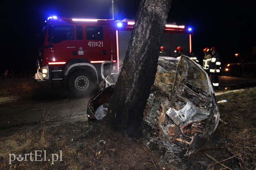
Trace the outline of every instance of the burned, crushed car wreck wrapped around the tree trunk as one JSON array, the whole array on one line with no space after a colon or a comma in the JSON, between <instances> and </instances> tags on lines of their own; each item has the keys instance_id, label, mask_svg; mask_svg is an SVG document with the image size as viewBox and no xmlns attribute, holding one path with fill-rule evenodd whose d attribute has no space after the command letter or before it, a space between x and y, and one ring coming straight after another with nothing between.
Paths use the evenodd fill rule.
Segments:
<instances>
[{"instance_id":1,"label":"burned, crushed car wreck wrapped around the tree trunk","mask_svg":"<svg viewBox=\"0 0 256 170\"><path fill-rule=\"evenodd\" d=\"M90 119L99 120L106 115L115 88L111 69L106 78L103 69L101 73L104 78L101 87L106 88L89 100L87 116ZM211 81L203 68L186 55L179 60L159 57L143 118L152 129L156 129L159 139L189 149L198 136L211 135L219 119Z\"/></svg>"}]
</instances>

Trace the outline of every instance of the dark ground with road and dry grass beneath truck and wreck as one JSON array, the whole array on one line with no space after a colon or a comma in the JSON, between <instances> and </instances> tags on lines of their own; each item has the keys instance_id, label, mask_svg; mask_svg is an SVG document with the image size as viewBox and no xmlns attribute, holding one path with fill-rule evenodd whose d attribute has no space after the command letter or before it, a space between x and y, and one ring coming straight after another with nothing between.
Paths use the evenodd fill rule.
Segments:
<instances>
[{"instance_id":1,"label":"dark ground with road and dry grass beneath truck and wreck","mask_svg":"<svg viewBox=\"0 0 256 170\"><path fill-rule=\"evenodd\" d=\"M255 169L255 88L216 91L217 101L228 100L218 104L222 121L190 150L160 141L145 123L143 136L131 139L88 120L89 98L47 87L36 95L1 98L0 169ZM35 151L42 155L35 158ZM10 164L9 154L19 153L34 154L33 161L12 155ZM59 158L52 164L54 153Z\"/></svg>"}]
</instances>

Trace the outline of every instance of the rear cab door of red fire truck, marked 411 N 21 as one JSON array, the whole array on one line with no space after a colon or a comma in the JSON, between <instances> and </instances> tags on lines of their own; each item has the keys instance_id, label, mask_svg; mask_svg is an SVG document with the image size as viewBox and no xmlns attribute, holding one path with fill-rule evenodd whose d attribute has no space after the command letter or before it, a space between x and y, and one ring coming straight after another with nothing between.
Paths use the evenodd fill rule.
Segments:
<instances>
[{"instance_id":1,"label":"rear cab door of red fire truck, marked 411 N 21","mask_svg":"<svg viewBox=\"0 0 256 170\"><path fill-rule=\"evenodd\" d=\"M113 40L109 25L85 25L83 26L84 44L79 43L78 58L86 58L92 63L102 63L106 60L114 60Z\"/></svg>"}]
</instances>

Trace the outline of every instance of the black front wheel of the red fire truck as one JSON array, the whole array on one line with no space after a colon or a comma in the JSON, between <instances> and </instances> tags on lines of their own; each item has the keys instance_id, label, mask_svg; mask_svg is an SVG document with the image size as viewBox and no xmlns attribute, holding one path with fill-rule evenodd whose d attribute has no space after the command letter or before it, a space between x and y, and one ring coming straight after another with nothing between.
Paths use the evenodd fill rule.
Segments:
<instances>
[{"instance_id":1,"label":"black front wheel of the red fire truck","mask_svg":"<svg viewBox=\"0 0 256 170\"><path fill-rule=\"evenodd\" d=\"M92 76L87 71L77 70L71 73L68 78L68 90L75 96L88 95L95 90L96 85Z\"/></svg>"}]
</instances>

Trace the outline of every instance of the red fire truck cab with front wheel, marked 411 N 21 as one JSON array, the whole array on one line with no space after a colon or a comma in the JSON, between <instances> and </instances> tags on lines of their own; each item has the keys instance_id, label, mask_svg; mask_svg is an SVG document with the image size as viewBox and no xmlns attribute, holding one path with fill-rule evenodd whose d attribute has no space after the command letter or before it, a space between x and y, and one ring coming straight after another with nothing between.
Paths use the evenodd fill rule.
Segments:
<instances>
[{"instance_id":1,"label":"red fire truck cab with front wheel, marked 411 N 21","mask_svg":"<svg viewBox=\"0 0 256 170\"><path fill-rule=\"evenodd\" d=\"M51 17L43 28L37 81L60 81L75 95L99 83L100 63L115 62L114 20Z\"/></svg>"}]
</instances>

